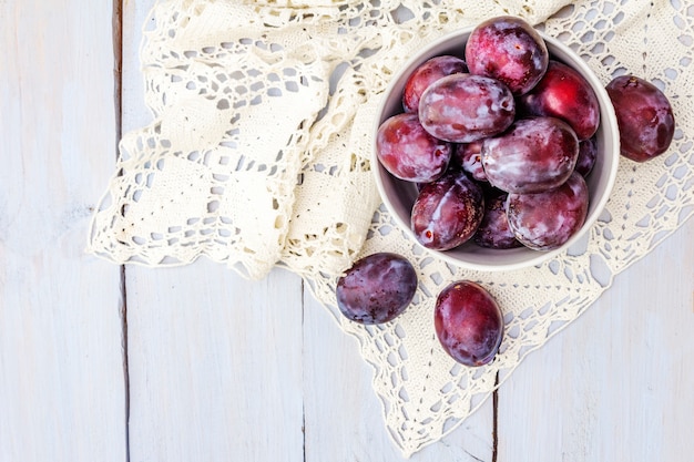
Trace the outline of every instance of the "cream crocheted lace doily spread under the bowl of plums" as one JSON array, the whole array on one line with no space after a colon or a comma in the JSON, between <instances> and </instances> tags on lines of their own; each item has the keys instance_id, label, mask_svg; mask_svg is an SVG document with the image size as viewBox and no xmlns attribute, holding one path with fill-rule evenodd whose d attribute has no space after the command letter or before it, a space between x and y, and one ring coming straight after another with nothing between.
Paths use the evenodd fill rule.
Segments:
<instances>
[{"instance_id":1,"label":"cream crocheted lace doily spread under the bowl of plums","mask_svg":"<svg viewBox=\"0 0 694 462\"><path fill-rule=\"evenodd\" d=\"M379 96L405 60L500 14L558 37L605 84L625 72L654 82L677 129L669 153L621 162L580 245L540 267L488 274L422 253L395 226L369 150ZM248 278L275 265L296 271L359 340L405 455L456 428L694 212L694 6L684 0L162 0L143 32L154 119L122 140L89 250L149 266L204 255ZM337 276L381 250L418 268L414 304L384 326L344 320ZM504 310L501 351L487 367L453 362L435 336L433 300L457 279L481 283Z\"/></svg>"}]
</instances>

